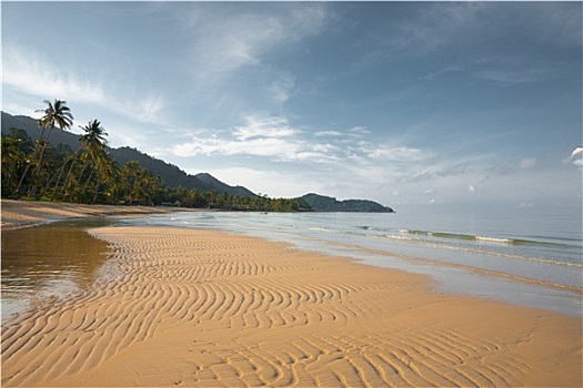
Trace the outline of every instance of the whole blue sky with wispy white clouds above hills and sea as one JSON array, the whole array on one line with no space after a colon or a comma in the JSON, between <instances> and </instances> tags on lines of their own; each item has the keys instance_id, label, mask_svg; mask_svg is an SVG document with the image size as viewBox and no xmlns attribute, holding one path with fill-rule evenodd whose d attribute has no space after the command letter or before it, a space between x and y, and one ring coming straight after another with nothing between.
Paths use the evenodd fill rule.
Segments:
<instances>
[{"instance_id":1,"label":"whole blue sky with wispy white clouds above hills and sea","mask_svg":"<svg viewBox=\"0 0 583 388\"><path fill-rule=\"evenodd\" d=\"M582 202L581 2L1 2L2 110L64 100L270 197Z\"/></svg>"}]
</instances>

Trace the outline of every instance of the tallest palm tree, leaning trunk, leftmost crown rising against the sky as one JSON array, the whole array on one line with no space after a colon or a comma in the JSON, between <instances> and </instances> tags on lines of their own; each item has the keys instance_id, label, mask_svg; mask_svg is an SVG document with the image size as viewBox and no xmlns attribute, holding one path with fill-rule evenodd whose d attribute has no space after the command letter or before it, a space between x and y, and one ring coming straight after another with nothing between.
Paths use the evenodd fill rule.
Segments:
<instances>
[{"instance_id":1,"label":"tallest palm tree, leaning trunk, leftmost crown rising against the sky","mask_svg":"<svg viewBox=\"0 0 583 388\"><path fill-rule=\"evenodd\" d=\"M61 132L66 129L70 127L73 123L73 115L71 114L71 110L69 106L67 106L67 101L62 100L54 100L54 104L51 103L48 100L44 100L44 103L48 105L44 110L39 110L37 112L44 113L44 115L39 120L39 126L41 127L41 134L39 139L39 146L34 151L34 156L31 159L31 164L33 162L37 163L37 169L34 171L34 175L40 174L40 170L42 166L42 157L44 156L44 151L47 150L47 145L49 144L49 136L51 135L52 130L58 126ZM49 130L49 133L47 134L47 137L44 136L44 131ZM24 177L27 176L31 164L27 166L27 170L24 170L24 173L22 174L22 177L20 178L20 183L17 187L17 193L20 190L20 186L22 182L24 181ZM30 190L29 195L33 196L37 192L37 184L32 185L32 188Z\"/></svg>"}]
</instances>

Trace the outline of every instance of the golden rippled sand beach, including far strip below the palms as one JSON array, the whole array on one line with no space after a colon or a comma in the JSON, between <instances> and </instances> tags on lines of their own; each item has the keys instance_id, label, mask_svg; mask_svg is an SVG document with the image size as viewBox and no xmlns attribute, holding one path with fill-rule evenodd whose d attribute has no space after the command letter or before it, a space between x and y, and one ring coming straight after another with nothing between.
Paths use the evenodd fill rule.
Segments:
<instances>
[{"instance_id":1,"label":"golden rippled sand beach, including far strip below the palms","mask_svg":"<svg viewBox=\"0 0 583 388\"><path fill-rule=\"evenodd\" d=\"M8 204L2 228L150 210ZM110 276L2 327L2 386L583 384L580 317L251 236L88 233L109 244Z\"/></svg>"}]
</instances>

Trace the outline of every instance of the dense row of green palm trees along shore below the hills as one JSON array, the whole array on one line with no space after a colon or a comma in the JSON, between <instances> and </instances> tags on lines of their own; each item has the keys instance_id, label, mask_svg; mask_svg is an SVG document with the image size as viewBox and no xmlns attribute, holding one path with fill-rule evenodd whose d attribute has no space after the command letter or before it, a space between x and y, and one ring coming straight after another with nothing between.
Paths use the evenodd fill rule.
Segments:
<instances>
[{"instance_id":1,"label":"dense row of green palm trees along shore below the hills","mask_svg":"<svg viewBox=\"0 0 583 388\"><path fill-rule=\"evenodd\" d=\"M83 204L181 206L231 211L300 212L302 198L267 195L234 196L217 191L169 187L138 161L119 165L108 151L108 133L98 120L80 126L79 146L52 146L53 130L71 127L73 115L66 101L44 101L37 141L22 129L2 135L2 197Z\"/></svg>"}]
</instances>

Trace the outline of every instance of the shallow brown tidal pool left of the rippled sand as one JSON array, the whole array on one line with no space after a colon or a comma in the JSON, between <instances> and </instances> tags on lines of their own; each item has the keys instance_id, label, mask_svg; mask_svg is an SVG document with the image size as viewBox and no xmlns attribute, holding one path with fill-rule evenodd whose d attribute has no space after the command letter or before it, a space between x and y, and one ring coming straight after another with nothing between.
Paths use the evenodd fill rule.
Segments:
<instances>
[{"instance_id":1,"label":"shallow brown tidal pool left of the rippled sand","mask_svg":"<svg viewBox=\"0 0 583 388\"><path fill-rule=\"evenodd\" d=\"M108 259L108 243L84 228L109 223L84 219L2 232L2 321L48 297L90 287Z\"/></svg>"}]
</instances>

